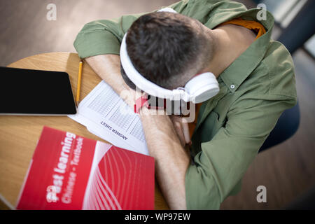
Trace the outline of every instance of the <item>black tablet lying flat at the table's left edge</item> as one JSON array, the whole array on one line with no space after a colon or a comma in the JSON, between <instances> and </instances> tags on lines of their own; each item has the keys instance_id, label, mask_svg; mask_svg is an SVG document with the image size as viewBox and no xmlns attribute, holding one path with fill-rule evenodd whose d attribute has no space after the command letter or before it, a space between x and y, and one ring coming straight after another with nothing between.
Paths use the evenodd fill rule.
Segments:
<instances>
[{"instance_id":1,"label":"black tablet lying flat at the table's left edge","mask_svg":"<svg viewBox=\"0 0 315 224\"><path fill-rule=\"evenodd\" d=\"M0 115L75 113L68 73L0 66Z\"/></svg>"}]
</instances>

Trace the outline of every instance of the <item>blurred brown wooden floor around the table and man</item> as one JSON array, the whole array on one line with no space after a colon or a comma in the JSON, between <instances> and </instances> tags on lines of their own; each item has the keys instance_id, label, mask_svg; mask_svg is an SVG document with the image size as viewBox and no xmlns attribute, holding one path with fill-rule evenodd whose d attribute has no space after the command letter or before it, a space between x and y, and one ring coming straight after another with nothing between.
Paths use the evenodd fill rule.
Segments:
<instances>
[{"instance_id":1,"label":"blurred brown wooden floor around the table and man","mask_svg":"<svg viewBox=\"0 0 315 224\"><path fill-rule=\"evenodd\" d=\"M74 38L85 23L148 12L174 2L0 1L0 66L42 52L75 52ZM48 3L57 6L56 21L46 20ZM249 7L255 6L251 1L245 3ZM293 59L301 111L300 128L294 137L255 158L244 176L241 193L228 197L221 209L281 209L315 185L315 64L302 50L297 51ZM256 201L256 188L261 185L267 188L266 203Z\"/></svg>"}]
</instances>

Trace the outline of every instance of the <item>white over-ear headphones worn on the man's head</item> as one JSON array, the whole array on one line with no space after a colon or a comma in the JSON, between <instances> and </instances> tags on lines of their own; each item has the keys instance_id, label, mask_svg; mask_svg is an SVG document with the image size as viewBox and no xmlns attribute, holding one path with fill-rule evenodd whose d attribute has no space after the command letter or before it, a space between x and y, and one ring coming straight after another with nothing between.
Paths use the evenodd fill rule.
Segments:
<instances>
[{"instance_id":1,"label":"white over-ear headphones worn on the man's head","mask_svg":"<svg viewBox=\"0 0 315 224\"><path fill-rule=\"evenodd\" d=\"M162 8L159 10L176 13L172 8ZM126 36L120 46L120 62L125 70L126 75L134 85L139 87L147 94L161 99L179 100L183 99L185 102L193 102L195 104L205 102L206 100L214 97L219 92L218 81L216 76L211 72L201 73L186 83L185 87L178 87L175 90L168 90L150 80L144 78L137 69L134 68L130 57L127 53Z\"/></svg>"}]
</instances>

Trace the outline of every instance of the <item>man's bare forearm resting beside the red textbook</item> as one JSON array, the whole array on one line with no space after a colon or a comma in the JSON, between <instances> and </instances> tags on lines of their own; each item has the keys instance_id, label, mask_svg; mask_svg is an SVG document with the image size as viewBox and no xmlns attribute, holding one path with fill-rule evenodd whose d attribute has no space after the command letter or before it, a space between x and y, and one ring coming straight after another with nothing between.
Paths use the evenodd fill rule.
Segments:
<instances>
[{"instance_id":1,"label":"man's bare forearm resting beside the red textbook","mask_svg":"<svg viewBox=\"0 0 315 224\"><path fill-rule=\"evenodd\" d=\"M144 107L141 122L148 151L155 158L156 175L165 200L170 209L186 209L185 176L190 158L172 120L165 115L150 115Z\"/></svg>"}]
</instances>

